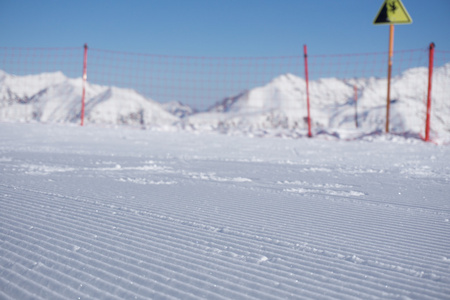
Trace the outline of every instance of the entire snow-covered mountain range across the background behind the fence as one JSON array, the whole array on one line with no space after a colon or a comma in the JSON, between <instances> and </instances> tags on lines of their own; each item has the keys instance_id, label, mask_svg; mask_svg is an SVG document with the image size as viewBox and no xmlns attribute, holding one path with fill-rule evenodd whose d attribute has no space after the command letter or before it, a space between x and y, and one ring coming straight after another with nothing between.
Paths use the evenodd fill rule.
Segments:
<instances>
[{"instance_id":1,"label":"entire snow-covered mountain range across the background behind the fence","mask_svg":"<svg viewBox=\"0 0 450 300\"><path fill-rule=\"evenodd\" d=\"M450 63L433 74L432 134L450 140ZM413 68L392 79L391 132L424 134L427 68ZM386 118L385 78L322 78L310 82L311 119L315 133L342 136L381 132ZM355 103L354 88L357 88ZM81 78L61 72L14 76L0 71L0 121L79 122ZM182 99L158 103L132 89L86 84L85 120L90 124L127 124L146 128L302 135L307 128L306 84L284 74L219 101L198 112ZM356 105L355 105L356 104Z\"/></svg>"}]
</instances>

